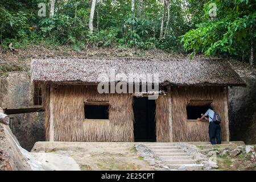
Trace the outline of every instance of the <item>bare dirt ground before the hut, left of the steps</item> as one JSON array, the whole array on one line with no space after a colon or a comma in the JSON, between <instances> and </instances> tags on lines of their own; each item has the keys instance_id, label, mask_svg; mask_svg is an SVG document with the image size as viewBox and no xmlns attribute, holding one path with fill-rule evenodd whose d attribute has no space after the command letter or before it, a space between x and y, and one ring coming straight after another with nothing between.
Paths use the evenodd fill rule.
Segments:
<instances>
[{"instance_id":1,"label":"bare dirt ground before the hut, left of the steps","mask_svg":"<svg viewBox=\"0 0 256 182\"><path fill-rule=\"evenodd\" d=\"M67 155L81 170L156 170L137 154L134 143L38 142L32 152Z\"/></svg>"}]
</instances>

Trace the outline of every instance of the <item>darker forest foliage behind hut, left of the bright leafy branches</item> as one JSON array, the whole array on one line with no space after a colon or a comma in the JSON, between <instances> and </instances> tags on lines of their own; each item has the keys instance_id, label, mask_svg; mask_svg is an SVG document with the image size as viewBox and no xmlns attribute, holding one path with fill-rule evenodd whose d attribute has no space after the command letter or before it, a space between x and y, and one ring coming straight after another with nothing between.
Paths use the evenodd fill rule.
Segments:
<instances>
[{"instance_id":1,"label":"darker forest foliage behind hut, left of the bright leafy branches","mask_svg":"<svg viewBox=\"0 0 256 182\"><path fill-rule=\"evenodd\" d=\"M47 5L47 17L43 18L37 15L38 3L42 2ZM165 39L159 41L163 3L155 0L136 3L135 15L131 15L131 3L125 0L97 1L93 34L88 32L88 1L56 1L55 16L49 18L47 0L3 0L0 2L1 44L3 49L12 42L15 48L26 48L32 43L50 48L66 45L80 50L93 44L97 47L157 47L182 51L178 37L187 31L188 26L184 26L181 2L172 1L170 14L173 21L167 27Z\"/></svg>"}]
</instances>

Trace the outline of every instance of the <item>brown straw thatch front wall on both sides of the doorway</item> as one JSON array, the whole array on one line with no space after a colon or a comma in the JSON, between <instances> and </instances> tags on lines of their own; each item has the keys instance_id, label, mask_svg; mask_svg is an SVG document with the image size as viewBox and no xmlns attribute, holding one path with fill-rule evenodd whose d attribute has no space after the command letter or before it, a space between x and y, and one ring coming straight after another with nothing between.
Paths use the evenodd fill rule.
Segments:
<instances>
[{"instance_id":1,"label":"brown straw thatch front wall on both sides of the doorway","mask_svg":"<svg viewBox=\"0 0 256 182\"><path fill-rule=\"evenodd\" d=\"M52 86L53 88L54 86ZM49 140L49 102L53 103L55 141L133 142L133 96L131 94L99 94L97 86L58 85L52 89L44 85L43 104L46 110L46 139ZM213 100L214 110L224 120L221 123L222 140L226 140L226 92L218 86L173 86L172 92L156 100L156 141L209 141L208 122L188 122L186 106L189 100ZM171 102L170 102L171 99ZM108 101L108 121L86 121L86 100ZM172 109L170 110L170 103ZM170 112L170 113L169 113ZM170 117L172 134L170 135ZM200 116L199 116L200 117Z\"/></svg>"}]
</instances>

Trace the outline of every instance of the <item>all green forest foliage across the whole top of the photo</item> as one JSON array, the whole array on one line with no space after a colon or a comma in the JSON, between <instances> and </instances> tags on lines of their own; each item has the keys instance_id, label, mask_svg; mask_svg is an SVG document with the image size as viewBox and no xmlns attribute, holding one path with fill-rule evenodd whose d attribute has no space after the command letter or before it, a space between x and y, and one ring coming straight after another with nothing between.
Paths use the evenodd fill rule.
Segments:
<instances>
[{"instance_id":1,"label":"all green forest foliage across the whole top of the photo","mask_svg":"<svg viewBox=\"0 0 256 182\"><path fill-rule=\"evenodd\" d=\"M217 17L210 18L210 3L217 5ZM47 16L38 16L38 3L46 3ZM59 0L55 16L49 18L48 0L2 0L0 2L0 43L7 49L29 44L159 48L168 52L203 53L212 56L249 57L255 42L254 0L170 0L164 20L164 38L159 39L163 2L136 1L135 14L126 0L98 0L93 34L88 32L90 1Z\"/></svg>"}]
</instances>

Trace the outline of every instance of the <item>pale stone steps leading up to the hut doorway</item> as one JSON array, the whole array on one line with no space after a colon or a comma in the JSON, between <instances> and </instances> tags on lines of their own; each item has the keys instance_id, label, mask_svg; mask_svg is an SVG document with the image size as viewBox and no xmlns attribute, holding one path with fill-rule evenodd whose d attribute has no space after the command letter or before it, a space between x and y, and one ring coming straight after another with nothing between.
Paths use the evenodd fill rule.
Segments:
<instances>
[{"instance_id":1,"label":"pale stone steps leading up to the hut doorway","mask_svg":"<svg viewBox=\"0 0 256 182\"><path fill-rule=\"evenodd\" d=\"M203 164L196 164L194 156L185 152L177 143L143 143L171 170L199 170Z\"/></svg>"}]
</instances>

